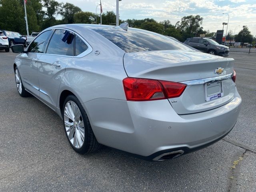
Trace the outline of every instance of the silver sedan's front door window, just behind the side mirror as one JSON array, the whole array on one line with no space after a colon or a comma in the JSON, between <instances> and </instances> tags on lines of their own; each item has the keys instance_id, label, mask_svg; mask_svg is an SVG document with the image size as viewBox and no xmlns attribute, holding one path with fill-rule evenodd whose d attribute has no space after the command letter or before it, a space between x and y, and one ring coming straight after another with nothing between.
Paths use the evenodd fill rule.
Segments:
<instances>
[{"instance_id":1,"label":"silver sedan's front door window, just behind the side mirror","mask_svg":"<svg viewBox=\"0 0 256 192\"><path fill-rule=\"evenodd\" d=\"M42 53L51 33L52 30L48 30L37 36L37 38L32 43L30 43L28 47L28 52Z\"/></svg>"}]
</instances>

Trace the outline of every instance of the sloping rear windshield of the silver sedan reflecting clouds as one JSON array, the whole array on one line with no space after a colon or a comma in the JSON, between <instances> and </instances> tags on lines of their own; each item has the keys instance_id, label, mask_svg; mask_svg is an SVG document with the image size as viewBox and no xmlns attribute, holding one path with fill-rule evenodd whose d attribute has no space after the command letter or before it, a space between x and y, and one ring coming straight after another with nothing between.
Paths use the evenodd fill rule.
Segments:
<instances>
[{"instance_id":1,"label":"sloping rear windshield of the silver sedan reflecting clouds","mask_svg":"<svg viewBox=\"0 0 256 192\"><path fill-rule=\"evenodd\" d=\"M170 38L144 30L128 28L120 30L113 28L92 28L127 53L156 50L190 50L183 44Z\"/></svg>"}]
</instances>

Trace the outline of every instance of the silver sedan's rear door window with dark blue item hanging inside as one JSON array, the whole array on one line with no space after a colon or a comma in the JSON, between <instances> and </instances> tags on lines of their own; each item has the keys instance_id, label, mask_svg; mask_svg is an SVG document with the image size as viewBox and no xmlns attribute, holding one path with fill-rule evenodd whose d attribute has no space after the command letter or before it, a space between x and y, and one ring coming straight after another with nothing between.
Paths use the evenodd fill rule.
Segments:
<instances>
[{"instance_id":1,"label":"silver sedan's rear door window with dark blue item hanging inside","mask_svg":"<svg viewBox=\"0 0 256 192\"><path fill-rule=\"evenodd\" d=\"M74 56L74 33L67 30L55 30L46 53Z\"/></svg>"}]
</instances>

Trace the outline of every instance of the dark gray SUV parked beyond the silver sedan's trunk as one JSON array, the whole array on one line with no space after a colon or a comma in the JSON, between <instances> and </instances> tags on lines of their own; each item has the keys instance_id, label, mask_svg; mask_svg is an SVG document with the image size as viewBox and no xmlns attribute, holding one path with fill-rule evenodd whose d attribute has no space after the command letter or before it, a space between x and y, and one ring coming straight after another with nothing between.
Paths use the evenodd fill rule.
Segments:
<instances>
[{"instance_id":1,"label":"dark gray SUV parked beyond the silver sedan's trunk","mask_svg":"<svg viewBox=\"0 0 256 192\"><path fill-rule=\"evenodd\" d=\"M218 55L223 57L229 56L229 48L227 46L218 44L216 41L212 39L192 37L188 38L184 42L184 44L212 55Z\"/></svg>"}]
</instances>

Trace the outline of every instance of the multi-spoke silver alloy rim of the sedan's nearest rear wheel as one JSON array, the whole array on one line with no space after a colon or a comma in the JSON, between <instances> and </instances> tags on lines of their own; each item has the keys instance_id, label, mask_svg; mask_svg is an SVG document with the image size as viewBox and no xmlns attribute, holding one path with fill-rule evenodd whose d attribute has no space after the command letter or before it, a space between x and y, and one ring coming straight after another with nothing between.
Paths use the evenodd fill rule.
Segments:
<instances>
[{"instance_id":1,"label":"multi-spoke silver alloy rim of the sedan's nearest rear wheel","mask_svg":"<svg viewBox=\"0 0 256 192\"><path fill-rule=\"evenodd\" d=\"M64 124L70 143L75 148L81 148L84 144L84 121L78 106L73 101L66 102Z\"/></svg>"}]
</instances>

